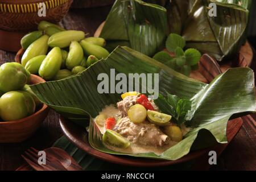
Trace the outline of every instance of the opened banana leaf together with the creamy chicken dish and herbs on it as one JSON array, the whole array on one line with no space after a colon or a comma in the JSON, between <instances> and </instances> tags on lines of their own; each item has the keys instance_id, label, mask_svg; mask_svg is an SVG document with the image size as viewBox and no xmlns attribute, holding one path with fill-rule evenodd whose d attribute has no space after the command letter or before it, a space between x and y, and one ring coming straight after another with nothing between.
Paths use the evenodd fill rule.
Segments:
<instances>
[{"instance_id":1,"label":"opened banana leaf together with the creamy chicken dish and herbs on it","mask_svg":"<svg viewBox=\"0 0 256 182\"><path fill-rule=\"evenodd\" d=\"M127 85L122 84L127 90L133 88L130 73L149 76L138 82L139 90L133 90L137 92L112 92L111 86L99 92L99 75L120 86L119 73L128 79ZM148 86L155 75L158 78ZM76 76L31 89L40 101L84 127L84 132L89 126L89 143L96 150L142 158L176 160L189 151L227 143L229 119L256 109L250 68L231 68L205 84L129 47L115 48Z\"/></svg>"}]
</instances>

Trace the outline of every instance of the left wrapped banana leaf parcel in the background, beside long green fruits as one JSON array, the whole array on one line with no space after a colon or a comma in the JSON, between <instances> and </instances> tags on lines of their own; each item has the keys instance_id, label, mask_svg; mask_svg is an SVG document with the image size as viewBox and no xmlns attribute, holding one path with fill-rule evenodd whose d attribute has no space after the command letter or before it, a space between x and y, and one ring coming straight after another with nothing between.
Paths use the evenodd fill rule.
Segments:
<instances>
[{"instance_id":1,"label":"left wrapped banana leaf parcel in the background, beside long green fruits","mask_svg":"<svg viewBox=\"0 0 256 182\"><path fill-rule=\"evenodd\" d=\"M109 51L117 46L129 46L153 56L166 40L166 9L141 0L117 0L100 36L107 40Z\"/></svg>"}]
</instances>

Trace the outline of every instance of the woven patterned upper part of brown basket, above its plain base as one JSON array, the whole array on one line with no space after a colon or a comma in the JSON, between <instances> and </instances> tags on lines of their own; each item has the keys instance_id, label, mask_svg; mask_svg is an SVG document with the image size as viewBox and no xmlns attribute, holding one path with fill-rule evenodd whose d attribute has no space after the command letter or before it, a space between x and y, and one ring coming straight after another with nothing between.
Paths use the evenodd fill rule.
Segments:
<instances>
[{"instance_id":1,"label":"woven patterned upper part of brown basket, above its plain base","mask_svg":"<svg viewBox=\"0 0 256 182\"><path fill-rule=\"evenodd\" d=\"M38 4L46 4L46 17L38 16ZM0 1L0 29L11 32L35 30L42 20L59 22L73 0L2 0Z\"/></svg>"}]
</instances>

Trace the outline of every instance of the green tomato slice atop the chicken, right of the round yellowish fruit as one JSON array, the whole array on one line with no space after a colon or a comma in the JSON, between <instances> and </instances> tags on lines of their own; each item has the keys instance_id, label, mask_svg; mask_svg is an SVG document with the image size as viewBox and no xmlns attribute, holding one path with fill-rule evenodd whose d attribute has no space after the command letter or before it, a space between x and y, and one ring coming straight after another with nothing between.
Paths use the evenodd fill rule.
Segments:
<instances>
[{"instance_id":1,"label":"green tomato slice atop the chicken, right of the round yellowish fruit","mask_svg":"<svg viewBox=\"0 0 256 182\"><path fill-rule=\"evenodd\" d=\"M166 126L171 120L172 116L164 113L159 113L154 110L147 110L148 121L158 126Z\"/></svg>"}]
</instances>

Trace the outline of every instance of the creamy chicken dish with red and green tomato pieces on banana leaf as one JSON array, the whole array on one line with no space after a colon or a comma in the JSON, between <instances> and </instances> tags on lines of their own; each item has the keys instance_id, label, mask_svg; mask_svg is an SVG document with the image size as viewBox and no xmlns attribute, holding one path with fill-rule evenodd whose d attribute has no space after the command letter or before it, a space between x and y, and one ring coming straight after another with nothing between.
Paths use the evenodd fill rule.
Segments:
<instances>
[{"instance_id":1,"label":"creamy chicken dish with red and green tomato pieces on banana leaf","mask_svg":"<svg viewBox=\"0 0 256 182\"><path fill-rule=\"evenodd\" d=\"M189 128L171 122L154 100L137 92L121 95L122 101L105 106L94 118L104 145L129 154L154 152L159 155L183 139Z\"/></svg>"}]
</instances>

